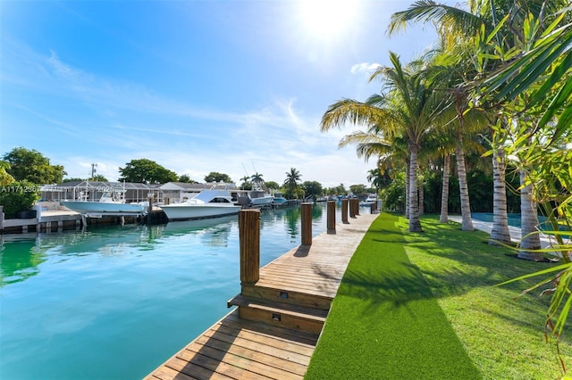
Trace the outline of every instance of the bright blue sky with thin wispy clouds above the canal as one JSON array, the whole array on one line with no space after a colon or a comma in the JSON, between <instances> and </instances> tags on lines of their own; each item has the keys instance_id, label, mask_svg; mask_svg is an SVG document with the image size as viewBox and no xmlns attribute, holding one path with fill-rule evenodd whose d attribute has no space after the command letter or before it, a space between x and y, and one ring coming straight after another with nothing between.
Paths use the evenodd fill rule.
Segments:
<instances>
[{"instance_id":1,"label":"bright blue sky with thin wispy clouds above the canal","mask_svg":"<svg viewBox=\"0 0 572 380\"><path fill-rule=\"evenodd\" d=\"M366 185L375 161L338 149L355 128L319 122L380 89L367 78L388 51L408 62L435 41L428 27L387 37L411 3L2 0L0 154L36 149L72 178L97 163L116 180L147 158L199 182L256 170L282 183L296 168Z\"/></svg>"}]
</instances>

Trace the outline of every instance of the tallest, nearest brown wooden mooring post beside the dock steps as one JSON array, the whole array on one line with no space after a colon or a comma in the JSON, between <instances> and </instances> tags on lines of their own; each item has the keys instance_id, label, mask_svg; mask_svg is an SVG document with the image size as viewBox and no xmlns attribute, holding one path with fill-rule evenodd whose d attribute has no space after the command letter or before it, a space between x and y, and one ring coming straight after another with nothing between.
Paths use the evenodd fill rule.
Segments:
<instances>
[{"instance_id":1,"label":"tallest, nearest brown wooden mooring post beside the dock steps","mask_svg":"<svg viewBox=\"0 0 572 380\"><path fill-rule=\"evenodd\" d=\"M260 279L260 211L239 212L240 282L256 283Z\"/></svg>"}]
</instances>

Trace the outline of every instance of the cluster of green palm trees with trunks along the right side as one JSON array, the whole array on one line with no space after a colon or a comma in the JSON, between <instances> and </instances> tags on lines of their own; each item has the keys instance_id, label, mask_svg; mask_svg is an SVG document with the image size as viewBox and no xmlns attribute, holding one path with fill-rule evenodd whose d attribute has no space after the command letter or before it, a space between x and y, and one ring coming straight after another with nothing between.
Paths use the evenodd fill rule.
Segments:
<instances>
[{"instance_id":1,"label":"cluster of green palm trees with trunks along the right side","mask_svg":"<svg viewBox=\"0 0 572 380\"><path fill-rule=\"evenodd\" d=\"M447 221L450 157L456 159L462 229L473 228L467 186L467 153L490 160L493 227L490 244L510 244L507 167L520 177L523 239L518 255L542 260L537 211L551 222L562 266L547 326L559 335L572 306L572 268L559 228L572 220L572 6L568 0L467 0L465 7L418 0L394 13L390 35L410 23L430 23L436 47L408 63L371 77L382 84L364 102L341 99L324 112L322 131L358 125L341 139L357 155L377 158L377 169L405 168L409 231L421 232L420 169L443 171L442 222ZM483 144L475 144L475 143ZM540 207L539 207L540 206Z\"/></svg>"}]
</instances>

